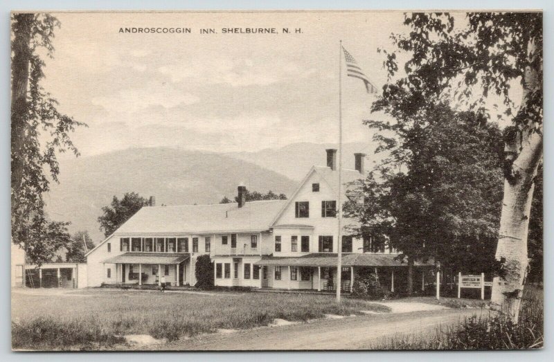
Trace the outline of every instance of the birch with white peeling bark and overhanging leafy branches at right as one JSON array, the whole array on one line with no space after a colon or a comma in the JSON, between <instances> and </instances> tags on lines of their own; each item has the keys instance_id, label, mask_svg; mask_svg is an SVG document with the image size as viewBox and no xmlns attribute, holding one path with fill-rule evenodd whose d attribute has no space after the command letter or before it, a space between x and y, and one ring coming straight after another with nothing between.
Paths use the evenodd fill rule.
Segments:
<instances>
[{"instance_id":1,"label":"birch with white peeling bark and overhanging leafy branches at right","mask_svg":"<svg viewBox=\"0 0 554 362\"><path fill-rule=\"evenodd\" d=\"M409 54L406 76L398 77L398 51L385 52L389 79L374 111L409 118L428 102L446 100L485 118L497 113L509 123L503 130L504 191L492 302L517 321L528 268L530 206L542 160L542 12L470 12L465 18L409 13L404 25L409 33L392 39Z\"/></svg>"}]
</instances>

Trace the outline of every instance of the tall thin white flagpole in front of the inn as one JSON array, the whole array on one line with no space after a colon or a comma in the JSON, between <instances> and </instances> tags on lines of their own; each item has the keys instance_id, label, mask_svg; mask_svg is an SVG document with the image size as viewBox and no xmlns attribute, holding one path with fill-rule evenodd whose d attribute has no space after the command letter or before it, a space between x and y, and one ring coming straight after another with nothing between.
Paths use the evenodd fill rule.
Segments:
<instances>
[{"instance_id":1,"label":"tall thin white flagpole in front of the inn","mask_svg":"<svg viewBox=\"0 0 554 362\"><path fill-rule=\"evenodd\" d=\"M341 277L342 277L342 40L339 40L339 195L337 196L337 206L339 215L337 224L339 225L339 239L337 240L337 302L341 301Z\"/></svg>"}]
</instances>

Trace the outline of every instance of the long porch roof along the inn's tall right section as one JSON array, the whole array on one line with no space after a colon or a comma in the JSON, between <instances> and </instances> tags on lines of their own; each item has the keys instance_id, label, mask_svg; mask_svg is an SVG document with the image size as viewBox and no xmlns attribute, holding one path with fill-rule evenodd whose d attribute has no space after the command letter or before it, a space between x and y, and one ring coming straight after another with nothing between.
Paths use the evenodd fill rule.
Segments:
<instances>
[{"instance_id":1,"label":"long porch roof along the inn's tall right section","mask_svg":"<svg viewBox=\"0 0 554 362\"><path fill-rule=\"evenodd\" d=\"M342 255L343 266L408 266L395 258L398 254L366 254L348 253ZM256 265L281 265L281 266L337 266L336 253L312 253L298 257L262 257ZM431 258L427 262L415 261L414 266L434 266Z\"/></svg>"}]
</instances>

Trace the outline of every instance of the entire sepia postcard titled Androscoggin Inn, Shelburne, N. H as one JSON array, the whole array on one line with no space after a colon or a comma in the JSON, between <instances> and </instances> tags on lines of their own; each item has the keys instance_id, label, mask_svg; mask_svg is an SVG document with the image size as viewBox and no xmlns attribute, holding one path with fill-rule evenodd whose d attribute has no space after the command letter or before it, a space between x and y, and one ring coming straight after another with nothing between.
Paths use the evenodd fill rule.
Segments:
<instances>
[{"instance_id":1,"label":"entire sepia postcard titled Androscoggin Inn, Shelburne, N. H","mask_svg":"<svg viewBox=\"0 0 554 362\"><path fill-rule=\"evenodd\" d=\"M11 14L12 349L543 347L542 12Z\"/></svg>"}]
</instances>

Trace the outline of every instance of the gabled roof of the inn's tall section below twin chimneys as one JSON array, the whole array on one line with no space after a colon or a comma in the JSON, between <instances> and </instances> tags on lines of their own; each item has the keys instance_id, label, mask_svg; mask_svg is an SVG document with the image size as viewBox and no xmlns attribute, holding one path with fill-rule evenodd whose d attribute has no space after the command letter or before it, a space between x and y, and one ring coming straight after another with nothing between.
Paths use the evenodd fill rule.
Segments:
<instances>
[{"instance_id":1,"label":"gabled roof of the inn's tall section below twin chimneys","mask_svg":"<svg viewBox=\"0 0 554 362\"><path fill-rule=\"evenodd\" d=\"M271 222L272 226L275 226L278 219L283 215L283 212L285 212L287 206L289 206L289 203L292 203L294 199L296 199L296 195L300 190L302 189L303 185L307 182L308 179L310 179L310 176L312 176L313 173L319 174L321 179L325 181L331 188L332 192L334 194L339 194L339 172L337 170L331 170L329 167L324 166L312 166L310 168L310 171L307 172L306 176L302 179L300 185L298 185L298 188L294 191L292 196L283 204L283 207L274 217L273 221ZM342 169L341 172L341 183L343 184L343 201L346 201L346 187L344 186L346 183L350 183L352 181L356 181L359 179L364 179L364 175L360 174L356 170L348 170L346 168Z\"/></svg>"}]
</instances>

